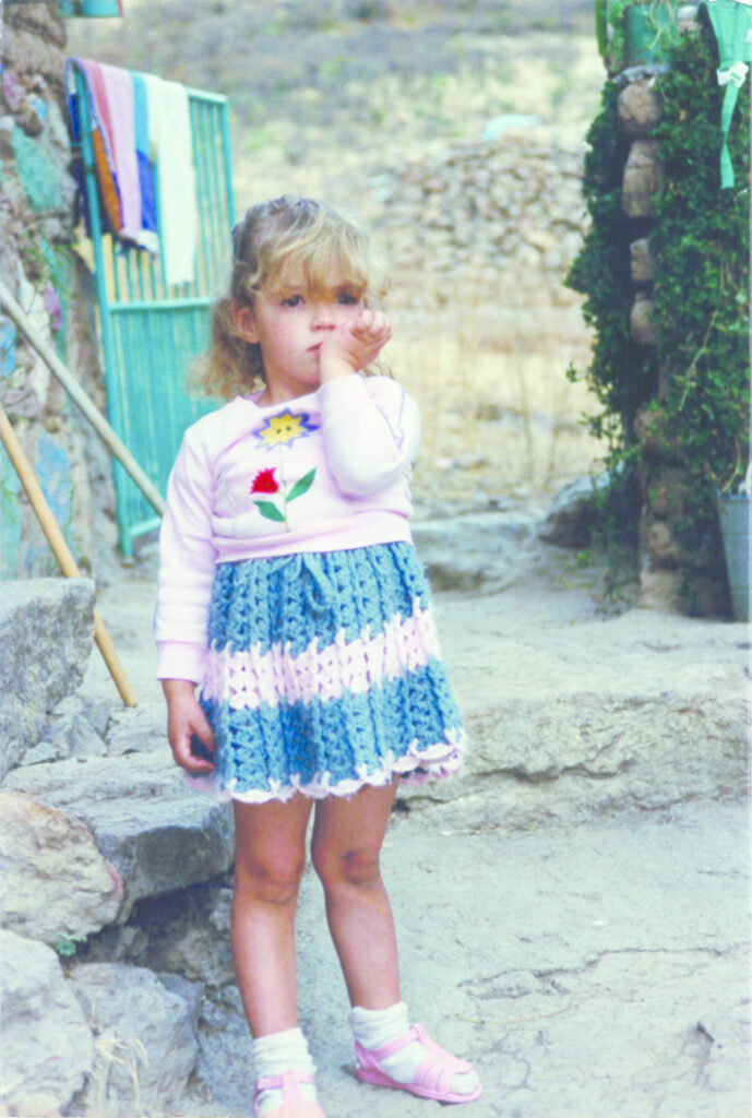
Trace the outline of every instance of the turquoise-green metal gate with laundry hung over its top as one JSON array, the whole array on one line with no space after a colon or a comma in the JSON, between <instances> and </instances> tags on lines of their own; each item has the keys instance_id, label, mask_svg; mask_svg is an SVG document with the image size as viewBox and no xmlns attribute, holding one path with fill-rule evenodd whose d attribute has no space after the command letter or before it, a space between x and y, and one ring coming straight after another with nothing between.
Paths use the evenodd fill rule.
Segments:
<instances>
[{"instance_id":1,"label":"turquoise-green metal gate with laundry hung over its top","mask_svg":"<svg viewBox=\"0 0 752 1118\"><path fill-rule=\"evenodd\" d=\"M162 255L103 230L86 82L76 74L86 197L94 243L107 418L162 493L184 429L216 405L188 395L191 361L208 341L209 309L227 284L235 199L227 98L188 89L199 214L196 278L168 285ZM159 173L159 169L158 169ZM123 555L159 517L114 463Z\"/></svg>"}]
</instances>

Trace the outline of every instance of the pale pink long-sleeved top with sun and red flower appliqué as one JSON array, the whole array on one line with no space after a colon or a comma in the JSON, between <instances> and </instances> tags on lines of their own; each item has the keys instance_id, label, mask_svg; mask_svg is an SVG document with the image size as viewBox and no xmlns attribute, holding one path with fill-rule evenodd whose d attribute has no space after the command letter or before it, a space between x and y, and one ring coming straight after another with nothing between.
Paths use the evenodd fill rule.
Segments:
<instances>
[{"instance_id":1,"label":"pale pink long-sleeved top with sun and red flower appliqu\u00e9","mask_svg":"<svg viewBox=\"0 0 752 1118\"><path fill-rule=\"evenodd\" d=\"M168 484L158 678L200 683L220 562L410 540L415 400L385 377L340 377L259 407L237 397L185 432Z\"/></svg>"}]
</instances>

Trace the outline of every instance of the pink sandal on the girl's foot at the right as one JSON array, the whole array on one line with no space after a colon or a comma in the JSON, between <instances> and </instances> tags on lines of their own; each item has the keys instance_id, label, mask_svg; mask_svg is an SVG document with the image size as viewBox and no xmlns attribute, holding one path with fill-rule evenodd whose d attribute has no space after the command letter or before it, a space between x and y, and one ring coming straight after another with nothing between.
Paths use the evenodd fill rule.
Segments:
<instances>
[{"instance_id":1,"label":"pink sandal on the girl's foot at the right","mask_svg":"<svg viewBox=\"0 0 752 1118\"><path fill-rule=\"evenodd\" d=\"M400 1052L413 1041L419 1041L427 1049L426 1059L418 1067L411 1083L400 1083L387 1074L380 1065L380 1061L385 1057ZM483 1095L480 1083L470 1095L458 1095L451 1090L451 1080L455 1076L465 1071L473 1071L473 1064L467 1060L459 1060L451 1052L447 1052L440 1044L432 1041L426 1032L425 1025L412 1025L409 1032L403 1033L391 1044L374 1049L369 1052L362 1044L355 1042L355 1055L358 1057L358 1070L355 1074L363 1083L374 1083L377 1087L393 1087L399 1091L410 1091L419 1095L421 1099L436 1099L438 1102L475 1102Z\"/></svg>"}]
</instances>

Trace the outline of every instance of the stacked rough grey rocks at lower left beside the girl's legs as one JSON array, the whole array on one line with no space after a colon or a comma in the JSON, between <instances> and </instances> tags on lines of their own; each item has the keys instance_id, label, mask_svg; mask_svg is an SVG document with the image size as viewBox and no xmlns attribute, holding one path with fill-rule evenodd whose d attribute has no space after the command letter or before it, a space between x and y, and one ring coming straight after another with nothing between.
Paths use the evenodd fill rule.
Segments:
<instances>
[{"instance_id":1,"label":"stacked rough grey rocks at lower left beside the girl's legs","mask_svg":"<svg viewBox=\"0 0 752 1118\"><path fill-rule=\"evenodd\" d=\"M78 693L94 598L88 579L2 585L3 1115L173 1112L201 992L232 980L231 815L179 775L161 702ZM206 919L177 920L164 894L187 908L197 887Z\"/></svg>"}]
</instances>

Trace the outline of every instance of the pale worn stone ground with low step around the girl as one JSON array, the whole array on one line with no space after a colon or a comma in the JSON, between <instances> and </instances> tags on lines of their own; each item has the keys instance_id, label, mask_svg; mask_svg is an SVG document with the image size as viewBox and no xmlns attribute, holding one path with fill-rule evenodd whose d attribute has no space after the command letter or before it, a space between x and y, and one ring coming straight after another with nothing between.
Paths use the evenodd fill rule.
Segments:
<instances>
[{"instance_id":1,"label":"pale worn stone ground with low step around the girl","mask_svg":"<svg viewBox=\"0 0 752 1118\"><path fill-rule=\"evenodd\" d=\"M477 1063L475 1118L748 1118L746 758L724 742L745 736L749 632L645 608L603 616L597 572L530 540L505 570L487 584L502 589L436 596L475 754L445 790L404 796L388 834L404 997ZM145 707L160 702L153 594L142 562L101 599ZM112 694L98 657L83 692ZM487 764L484 735L505 732L518 741ZM355 1081L310 872L298 935L330 1118L438 1114ZM202 1046L175 1114L250 1115L236 1006L213 1007Z\"/></svg>"}]
</instances>

